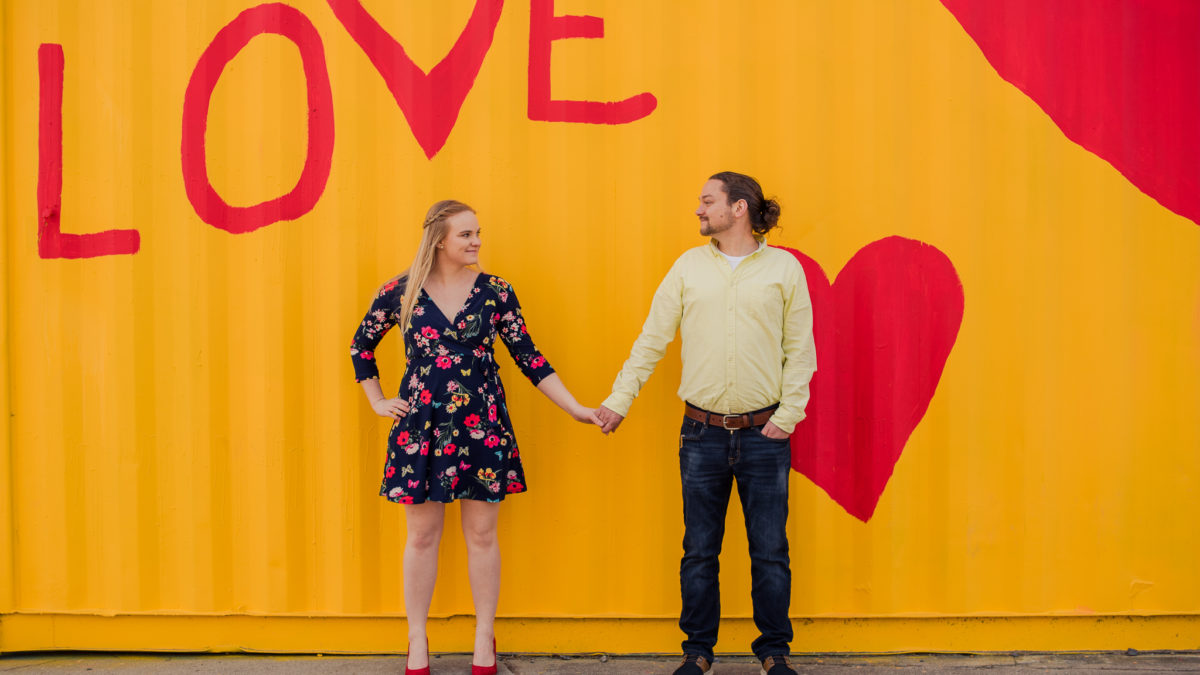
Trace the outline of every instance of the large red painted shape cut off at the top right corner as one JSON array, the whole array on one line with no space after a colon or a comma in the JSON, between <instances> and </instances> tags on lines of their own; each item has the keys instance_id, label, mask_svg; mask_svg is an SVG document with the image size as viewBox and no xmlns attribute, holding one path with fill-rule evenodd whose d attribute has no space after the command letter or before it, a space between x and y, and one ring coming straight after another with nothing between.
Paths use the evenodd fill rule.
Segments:
<instances>
[{"instance_id":1,"label":"large red painted shape cut off at the top right corner","mask_svg":"<svg viewBox=\"0 0 1200 675\"><path fill-rule=\"evenodd\" d=\"M942 4L1067 138L1200 225L1200 2Z\"/></svg>"}]
</instances>

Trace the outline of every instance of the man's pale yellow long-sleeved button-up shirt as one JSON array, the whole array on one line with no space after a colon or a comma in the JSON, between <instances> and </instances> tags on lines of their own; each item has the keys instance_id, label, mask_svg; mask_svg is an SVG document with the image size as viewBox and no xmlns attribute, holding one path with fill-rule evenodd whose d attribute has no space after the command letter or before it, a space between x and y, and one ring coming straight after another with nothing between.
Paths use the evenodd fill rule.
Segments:
<instances>
[{"instance_id":1,"label":"man's pale yellow long-sleeved button-up shirt","mask_svg":"<svg viewBox=\"0 0 1200 675\"><path fill-rule=\"evenodd\" d=\"M804 419L817 358L812 303L794 256L762 240L737 269L715 241L679 256L654 293L605 407L629 413L677 329L683 336L680 399L722 414L778 402L770 420L788 434Z\"/></svg>"}]
</instances>

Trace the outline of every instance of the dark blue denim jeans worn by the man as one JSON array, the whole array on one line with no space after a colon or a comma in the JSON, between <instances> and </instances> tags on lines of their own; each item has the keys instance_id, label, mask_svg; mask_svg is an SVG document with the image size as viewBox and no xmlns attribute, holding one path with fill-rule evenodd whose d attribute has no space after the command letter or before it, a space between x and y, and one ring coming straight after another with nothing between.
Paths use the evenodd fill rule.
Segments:
<instances>
[{"instance_id":1,"label":"dark blue denim jeans worn by the man","mask_svg":"<svg viewBox=\"0 0 1200 675\"><path fill-rule=\"evenodd\" d=\"M727 431L684 418L679 431L679 476L683 483L683 560L679 628L688 635L684 653L712 663L721 621L718 581L721 539L730 490L738 482L742 515L750 542L750 598L761 633L751 643L755 657L787 656L792 641L788 607L792 571L787 556L787 440L762 435L761 426Z\"/></svg>"}]
</instances>

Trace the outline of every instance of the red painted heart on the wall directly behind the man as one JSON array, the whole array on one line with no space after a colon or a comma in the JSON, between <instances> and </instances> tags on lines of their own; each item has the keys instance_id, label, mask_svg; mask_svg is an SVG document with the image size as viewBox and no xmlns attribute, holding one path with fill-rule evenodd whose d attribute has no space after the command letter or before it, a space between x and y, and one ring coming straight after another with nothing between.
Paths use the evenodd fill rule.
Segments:
<instances>
[{"instance_id":1,"label":"red painted heart on the wall directly behind the man","mask_svg":"<svg viewBox=\"0 0 1200 675\"><path fill-rule=\"evenodd\" d=\"M792 468L870 520L925 416L962 323L962 283L944 253L888 237L860 249L833 286L804 253L817 372L792 435Z\"/></svg>"}]
</instances>

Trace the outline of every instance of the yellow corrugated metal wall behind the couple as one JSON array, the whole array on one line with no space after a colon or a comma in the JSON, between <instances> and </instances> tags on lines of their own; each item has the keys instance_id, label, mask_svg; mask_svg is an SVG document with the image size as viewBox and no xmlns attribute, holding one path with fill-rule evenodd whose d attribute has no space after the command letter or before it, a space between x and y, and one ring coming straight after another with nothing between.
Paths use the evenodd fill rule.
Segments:
<instances>
[{"instance_id":1,"label":"yellow corrugated metal wall behind the couple","mask_svg":"<svg viewBox=\"0 0 1200 675\"><path fill-rule=\"evenodd\" d=\"M311 211L244 234L193 209L181 115L200 54L252 2L0 8L0 651L311 649L283 617L344 617L307 625L332 637L325 651L402 649L404 524L377 496L386 422L353 382L348 344L410 259L425 208L478 209L485 268L516 286L544 353L596 405L659 279L702 243L695 197L726 168L779 196L772 241L830 277L901 235L941 250L966 298L874 516L793 474L797 646L1196 649L1200 227L1070 143L938 2L558 0L557 14L602 17L605 36L554 43L556 98L658 101L594 125L529 119L530 4L509 0L432 159L330 6L289 4L323 42L332 166ZM366 6L428 70L473 2ZM136 228L137 253L38 256L43 43L66 62L62 231ZM227 202L295 185L305 109L296 48L256 37L208 121ZM378 353L397 387L398 342ZM511 649L674 651L678 351L613 437L502 363L530 484L500 525ZM737 521L726 551L724 611L744 619ZM464 569L450 536L436 616L472 611ZM1110 615L1134 619L1112 628ZM180 617L206 623L188 637ZM1079 621L1010 626L1049 617ZM571 631L587 619L604 627L592 641ZM131 643L120 620L151 628ZM444 625L445 649L467 644L469 625ZM719 650L746 651L748 622L734 626Z\"/></svg>"}]
</instances>

